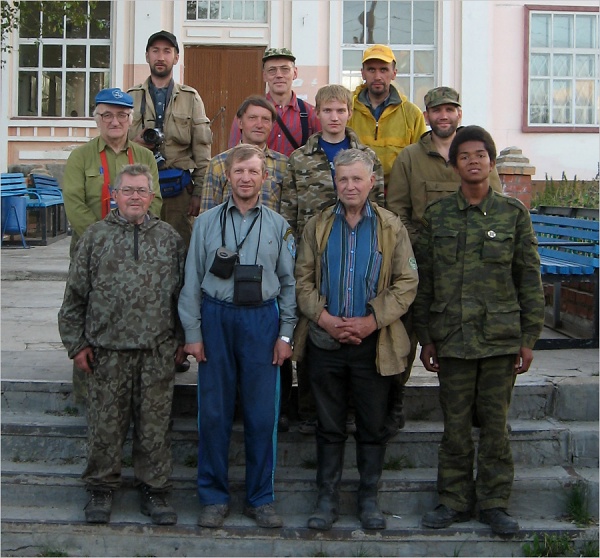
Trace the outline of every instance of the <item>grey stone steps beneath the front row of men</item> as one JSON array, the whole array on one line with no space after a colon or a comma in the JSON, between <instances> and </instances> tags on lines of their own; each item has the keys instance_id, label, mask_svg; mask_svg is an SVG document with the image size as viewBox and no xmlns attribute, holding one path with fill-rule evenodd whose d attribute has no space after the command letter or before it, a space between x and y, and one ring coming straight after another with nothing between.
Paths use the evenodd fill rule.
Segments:
<instances>
[{"instance_id":1,"label":"grey stone steps beneath the front row of men","mask_svg":"<svg viewBox=\"0 0 600 558\"><path fill-rule=\"evenodd\" d=\"M44 362L38 355L44 378ZM3 369L18 359L2 355ZM15 362L16 360L16 362ZM4 370L3 370L4 372ZM7 375L3 373L3 377ZM10 376L9 376L10 377ZM191 376L193 378L193 374ZM442 421L437 381L413 375L407 386L407 425L389 444L380 489L388 529L366 532L356 518L355 448L349 439L341 488L342 517L329 532L306 528L316 498L314 437L292 426L279 435L276 507L279 530L257 528L241 514L244 446L236 424L230 451L232 514L219 530L196 525L195 385L176 386L173 412L175 526L158 527L139 512L131 449L126 445L123 489L109 525L87 525L87 494L79 476L86 452L85 418L58 380L2 380L2 541L4 556L522 556L535 534L567 535L577 545L598 541L597 525L565 517L574 487L598 514L598 377L519 377L510 411L515 483L510 512L521 533L492 535L475 519L449 529L423 529L420 517L437 503L437 446ZM474 431L477 435L477 431ZM58 554L61 553L61 554Z\"/></svg>"}]
</instances>

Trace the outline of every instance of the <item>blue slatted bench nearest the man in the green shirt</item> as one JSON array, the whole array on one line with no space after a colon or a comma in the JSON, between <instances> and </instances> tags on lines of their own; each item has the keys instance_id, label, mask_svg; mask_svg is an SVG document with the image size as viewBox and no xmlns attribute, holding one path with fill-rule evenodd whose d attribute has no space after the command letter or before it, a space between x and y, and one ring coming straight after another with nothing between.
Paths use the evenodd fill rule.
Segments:
<instances>
[{"instance_id":1,"label":"blue slatted bench nearest the man in the green shirt","mask_svg":"<svg viewBox=\"0 0 600 558\"><path fill-rule=\"evenodd\" d=\"M65 202L58 181L45 174L32 174L27 189L27 212L32 243L46 246L67 236Z\"/></svg>"}]
</instances>

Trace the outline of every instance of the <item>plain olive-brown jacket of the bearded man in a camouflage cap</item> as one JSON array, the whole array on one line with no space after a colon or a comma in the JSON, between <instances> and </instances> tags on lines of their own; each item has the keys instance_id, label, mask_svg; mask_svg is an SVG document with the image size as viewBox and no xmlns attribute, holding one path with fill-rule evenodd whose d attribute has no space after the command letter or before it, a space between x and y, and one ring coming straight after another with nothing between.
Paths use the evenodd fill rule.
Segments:
<instances>
[{"instance_id":1,"label":"plain olive-brown jacket of the bearded man in a camouflage cap","mask_svg":"<svg viewBox=\"0 0 600 558\"><path fill-rule=\"evenodd\" d=\"M421 218L427 204L453 194L459 186L460 177L437 152L429 131L396 157L388 183L386 207L402 219L414 245L423 228ZM490 186L502 193L496 167L490 174Z\"/></svg>"}]
</instances>

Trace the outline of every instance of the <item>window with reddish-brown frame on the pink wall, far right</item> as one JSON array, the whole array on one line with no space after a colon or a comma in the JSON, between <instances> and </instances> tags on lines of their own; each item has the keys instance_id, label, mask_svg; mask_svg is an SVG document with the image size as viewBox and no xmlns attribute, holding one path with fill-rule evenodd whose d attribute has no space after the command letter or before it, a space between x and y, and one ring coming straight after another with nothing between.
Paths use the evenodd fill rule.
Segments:
<instances>
[{"instance_id":1,"label":"window with reddish-brown frame on the pink wall, far right","mask_svg":"<svg viewBox=\"0 0 600 558\"><path fill-rule=\"evenodd\" d=\"M525 128L595 131L600 103L597 11L543 11L531 7L526 17Z\"/></svg>"}]
</instances>

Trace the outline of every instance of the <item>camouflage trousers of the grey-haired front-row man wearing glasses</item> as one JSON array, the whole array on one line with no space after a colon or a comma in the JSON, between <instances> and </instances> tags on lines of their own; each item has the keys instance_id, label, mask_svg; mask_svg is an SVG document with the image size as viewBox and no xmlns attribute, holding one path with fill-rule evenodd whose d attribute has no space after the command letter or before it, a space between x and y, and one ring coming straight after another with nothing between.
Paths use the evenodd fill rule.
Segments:
<instances>
[{"instance_id":1,"label":"camouflage trousers of the grey-haired front-row man wearing glasses","mask_svg":"<svg viewBox=\"0 0 600 558\"><path fill-rule=\"evenodd\" d=\"M82 475L88 488L120 486L132 419L136 482L157 492L170 488L175 349L176 341L169 340L151 350L94 350L93 374L88 374L88 462Z\"/></svg>"}]
</instances>

